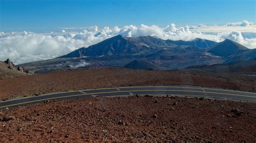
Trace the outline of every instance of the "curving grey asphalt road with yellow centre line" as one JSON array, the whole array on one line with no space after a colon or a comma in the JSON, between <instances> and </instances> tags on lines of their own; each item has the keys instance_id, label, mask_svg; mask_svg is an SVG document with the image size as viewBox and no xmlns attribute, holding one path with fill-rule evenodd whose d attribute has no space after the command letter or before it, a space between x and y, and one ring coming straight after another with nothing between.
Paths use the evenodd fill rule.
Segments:
<instances>
[{"instance_id":1,"label":"curving grey asphalt road with yellow centre line","mask_svg":"<svg viewBox=\"0 0 256 143\"><path fill-rule=\"evenodd\" d=\"M12 99L0 102L0 109L14 108L28 104L43 103L44 101L59 101L66 99L78 99L101 96L130 96L130 95L183 95L199 97L216 97L237 99L242 101L256 102L256 93L241 92L233 90L222 90L212 88L194 88L194 87L122 87L107 88L95 90L80 90L72 92L59 92L40 96Z\"/></svg>"}]
</instances>

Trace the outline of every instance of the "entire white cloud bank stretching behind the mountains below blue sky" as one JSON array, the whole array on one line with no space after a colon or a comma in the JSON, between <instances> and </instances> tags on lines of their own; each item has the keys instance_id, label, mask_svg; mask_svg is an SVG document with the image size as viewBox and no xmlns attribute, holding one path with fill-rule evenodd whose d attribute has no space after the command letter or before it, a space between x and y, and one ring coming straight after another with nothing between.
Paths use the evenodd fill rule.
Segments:
<instances>
[{"instance_id":1,"label":"entire white cloud bank stretching behind the mountains below blue sky","mask_svg":"<svg viewBox=\"0 0 256 143\"><path fill-rule=\"evenodd\" d=\"M193 40L196 38L213 41L231 39L248 47L256 48L256 27L254 23L243 21L223 26L176 26L129 25L123 27L97 26L86 28L62 28L58 32L0 32L0 60L10 58L14 63L25 63L56 58L80 47L97 44L114 35L138 37L154 35L161 39Z\"/></svg>"}]
</instances>

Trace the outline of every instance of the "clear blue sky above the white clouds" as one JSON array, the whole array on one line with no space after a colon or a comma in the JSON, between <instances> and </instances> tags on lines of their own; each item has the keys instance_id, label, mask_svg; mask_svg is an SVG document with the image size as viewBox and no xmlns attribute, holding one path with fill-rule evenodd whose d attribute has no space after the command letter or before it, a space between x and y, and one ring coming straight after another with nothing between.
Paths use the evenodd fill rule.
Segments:
<instances>
[{"instance_id":1,"label":"clear blue sky above the white clouds","mask_svg":"<svg viewBox=\"0 0 256 143\"><path fill-rule=\"evenodd\" d=\"M59 27L255 23L255 0L0 0L0 31Z\"/></svg>"}]
</instances>

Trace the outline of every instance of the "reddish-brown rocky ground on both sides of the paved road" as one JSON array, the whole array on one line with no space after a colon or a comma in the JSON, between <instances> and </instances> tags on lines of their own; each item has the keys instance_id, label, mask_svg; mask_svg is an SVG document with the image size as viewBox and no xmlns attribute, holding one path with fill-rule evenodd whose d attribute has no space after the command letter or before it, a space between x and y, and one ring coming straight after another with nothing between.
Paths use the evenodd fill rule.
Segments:
<instances>
[{"instance_id":1,"label":"reddish-brown rocky ground on both sides of the paved road","mask_svg":"<svg viewBox=\"0 0 256 143\"><path fill-rule=\"evenodd\" d=\"M254 71L254 70L253 70ZM89 68L0 80L0 99L49 92L186 85L255 92L255 76L199 69ZM0 142L254 142L256 103L186 97L95 97L0 111Z\"/></svg>"}]
</instances>

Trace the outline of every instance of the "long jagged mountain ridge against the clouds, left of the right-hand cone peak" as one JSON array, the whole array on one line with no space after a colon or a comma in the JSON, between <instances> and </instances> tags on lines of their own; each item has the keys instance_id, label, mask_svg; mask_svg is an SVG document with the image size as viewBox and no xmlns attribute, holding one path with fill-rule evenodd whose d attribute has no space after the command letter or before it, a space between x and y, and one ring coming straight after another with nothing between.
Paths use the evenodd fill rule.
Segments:
<instances>
[{"instance_id":1,"label":"long jagged mountain ridge against the clouds, left of the right-hand cone peak","mask_svg":"<svg viewBox=\"0 0 256 143\"><path fill-rule=\"evenodd\" d=\"M208 45L217 44L217 42L196 39L196 41L203 42L206 45L203 48L208 48ZM58 58L77 58L82 56L105 56L105 55L127 55L135 54L140 51L145 51L147 48L172 48L177 46L194 46L195 41L183 41L179 40L175 42L173 40L163 40L160 38L154 38L151 36L140 36L137 38L123 37L122 35L116 35L109 39L106 39L98 44L91 45L87 48L82 47L66 55L59 56ZM187 44L187 45L186 45ZM200 46L202 47L202 46Z\"/></svg>"}]
</instances>

